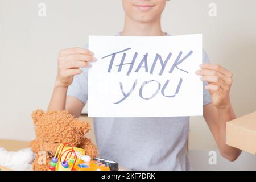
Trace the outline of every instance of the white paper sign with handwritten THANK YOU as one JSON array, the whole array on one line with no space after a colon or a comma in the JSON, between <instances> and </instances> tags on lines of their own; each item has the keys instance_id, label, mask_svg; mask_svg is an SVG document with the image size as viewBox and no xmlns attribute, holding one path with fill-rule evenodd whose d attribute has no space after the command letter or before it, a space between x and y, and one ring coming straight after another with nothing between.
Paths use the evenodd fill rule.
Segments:
<instances>
[{"instance_id":1,"label":"white paper sign with handwritten THANK YOU","mask_svg":"<svg viewBox=\"0 0 256 182\"><path fill-rule=\"evenodd\" d=\"M202 35L89 36L89 117L203 115Z\"/></svg>"}]
</instances>

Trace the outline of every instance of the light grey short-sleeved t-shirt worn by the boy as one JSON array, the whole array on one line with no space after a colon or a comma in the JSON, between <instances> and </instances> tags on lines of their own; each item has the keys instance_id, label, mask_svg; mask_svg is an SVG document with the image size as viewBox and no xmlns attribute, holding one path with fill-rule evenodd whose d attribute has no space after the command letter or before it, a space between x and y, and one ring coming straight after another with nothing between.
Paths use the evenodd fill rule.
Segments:
<instances>
[{"instance_id":1,"label":"light grey short-sleeved t-shirt worn by the boy","mask_svg":"<svg viewBox=\"0 0 256 182\"><path fill-rule=\"evenodd\" d=\"M203 63L209 63L205 51ZM81 69L67 95L85 104L89 68ZM203 104L206 105L211 98L204 86ZM188 131L189 117L94 118L99 157L115 160L131 170L190 170L186 147Z\"/></svg>"}]
</instances>

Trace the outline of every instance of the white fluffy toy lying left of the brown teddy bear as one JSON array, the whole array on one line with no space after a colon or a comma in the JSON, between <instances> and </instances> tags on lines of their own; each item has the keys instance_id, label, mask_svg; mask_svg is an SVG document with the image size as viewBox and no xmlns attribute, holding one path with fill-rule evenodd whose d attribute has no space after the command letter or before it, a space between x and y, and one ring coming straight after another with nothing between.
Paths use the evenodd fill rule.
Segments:
<instances>
[{"instance_id":1,"label":"white fluffy toy lying left of the brown teddy bear","mask_svg":"<svg viewBox=\"0 0 256 182\"><path fill-rule=\"evenodd\" d=\"M15 171L31 171L33 160L34 154L31 148L24 148L13 152L0 147L0 166Z\"/></svg>"}]
</instances>

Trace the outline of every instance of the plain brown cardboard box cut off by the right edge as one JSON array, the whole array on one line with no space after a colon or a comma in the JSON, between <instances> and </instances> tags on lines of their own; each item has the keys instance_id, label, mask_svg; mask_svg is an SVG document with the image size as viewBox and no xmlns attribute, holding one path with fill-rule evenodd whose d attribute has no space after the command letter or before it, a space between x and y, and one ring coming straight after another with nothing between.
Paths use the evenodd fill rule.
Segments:
<instances>
[{"instance_id":1,"label":"plain brown cardboard box cut off by the right edge","mask_svg":"<svg viewBox=\"0 0 256 182\"><path fill-rule=\"evenodd\" d=\"M226 123L226 144L256 154L256 111Z\"/></svg>"}]
</instances>

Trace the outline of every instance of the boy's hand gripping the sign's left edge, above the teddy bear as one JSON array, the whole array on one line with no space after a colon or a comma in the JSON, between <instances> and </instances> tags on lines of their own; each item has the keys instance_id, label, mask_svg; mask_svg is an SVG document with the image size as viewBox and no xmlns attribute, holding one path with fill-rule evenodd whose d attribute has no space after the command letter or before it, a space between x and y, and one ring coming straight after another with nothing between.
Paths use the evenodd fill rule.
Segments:
<instances>
[{"instance_id":1,"label":"boy's hand gripping the sign's left edge, above the teddy bear","mask_svg":"<svg viewBox=\"0 0 256 182\"><path fill-rule=\"evenodd\" d=\"M68 87L72 84L73 76L82 73L81 69L90 67L89 61L95 61L93 52L88 49L74 47L63 49L58 57L58 73L55 86Z\"/></svg>"}]
</instances>

